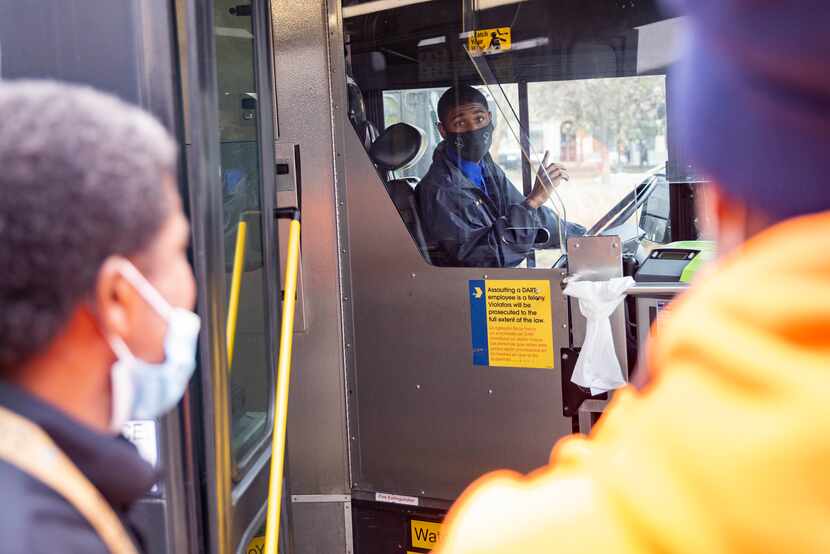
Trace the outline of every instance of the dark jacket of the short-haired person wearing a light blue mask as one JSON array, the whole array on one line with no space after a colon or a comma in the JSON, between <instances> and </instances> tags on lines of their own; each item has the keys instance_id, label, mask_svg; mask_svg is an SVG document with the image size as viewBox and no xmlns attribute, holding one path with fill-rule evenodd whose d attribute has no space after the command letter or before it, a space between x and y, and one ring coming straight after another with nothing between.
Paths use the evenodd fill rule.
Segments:
<instances>
[{"instance_id":1,"label":"dark jacket of the short-haired person wearing a light blue mask","mask_svg":"<svg viewBox=\"0 0 830 554\"><path fill-rule=\"evenodd\" d=\"M159 475L127 439L94 431L50 404L0 381L0 406L36 423L86 476L144 552L133 506ZM3 440L3 437L0 437ZM89 522L57 492L0 461L0 553L105 554Z\"/></svg>"}]
</instances>

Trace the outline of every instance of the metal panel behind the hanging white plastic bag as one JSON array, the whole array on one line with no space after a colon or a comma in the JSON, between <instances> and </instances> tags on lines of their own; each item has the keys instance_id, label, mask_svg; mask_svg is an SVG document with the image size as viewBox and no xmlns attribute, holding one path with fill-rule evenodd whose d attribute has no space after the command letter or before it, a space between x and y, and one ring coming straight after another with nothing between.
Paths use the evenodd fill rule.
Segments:
<instances>
[{"instance_id":1,"label":"metal panel behind the hanging white plastic bag","mask_svg":"<svg viewBox=\"0 0 830 554\"><path fill-rule=\"evenodd\" d=\"M607 281L622 277L622 248L620 237L579 237L568 239L568 268L571 278L585 281ZM569 298L573 345L585 342L585 317L579 311L579 302ZM625 304L611 314L614 350L623 375L628 379L628 346L625 340Z\"/></svg>"}]
</instances>

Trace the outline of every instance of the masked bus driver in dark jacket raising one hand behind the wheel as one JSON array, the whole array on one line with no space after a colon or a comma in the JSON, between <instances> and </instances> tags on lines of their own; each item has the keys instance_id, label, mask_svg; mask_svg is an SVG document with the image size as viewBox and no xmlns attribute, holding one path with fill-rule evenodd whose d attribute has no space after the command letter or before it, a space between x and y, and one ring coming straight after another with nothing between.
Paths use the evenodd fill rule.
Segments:
<instances>
[{"instance_id":1,"label":"masked bus driver in dark jacket raising one hand behind the wheel","mask_svg":"<svg viewBox=\"0 0 830 554\"><path fill-rule=\"evenodd\" d=\"M562 236L584 235L544 206L568 173L542 161L533 190L523 196L490 156L492 114L471 86L448 89L438 101L444 140L416 193L426 239L438 245L441 265L514 267L535 248L558 248ZM545 173L546 172L546 173Z\"/></svg>"}]
</instances>

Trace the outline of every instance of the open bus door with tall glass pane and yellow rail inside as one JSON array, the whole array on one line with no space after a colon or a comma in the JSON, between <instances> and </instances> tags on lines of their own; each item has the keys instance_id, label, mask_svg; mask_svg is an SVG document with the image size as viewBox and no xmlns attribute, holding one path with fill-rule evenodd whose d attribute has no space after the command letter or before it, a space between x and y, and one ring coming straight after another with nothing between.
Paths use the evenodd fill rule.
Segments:
<instances>
[{"instance_id":1,"label":"open bus door with tall glass pane and yellow rail inside","mask_svg":"<svg viewBox=\"0 0 830 554\"><path fill-rule=\"evenodd\" d=\"M201 550L245 552L265 521L280 275L268 3L176 2L194 268L204 334L187 425Z\"/></svg>"}]
</instances>

